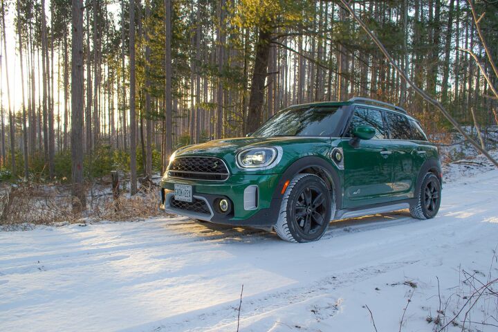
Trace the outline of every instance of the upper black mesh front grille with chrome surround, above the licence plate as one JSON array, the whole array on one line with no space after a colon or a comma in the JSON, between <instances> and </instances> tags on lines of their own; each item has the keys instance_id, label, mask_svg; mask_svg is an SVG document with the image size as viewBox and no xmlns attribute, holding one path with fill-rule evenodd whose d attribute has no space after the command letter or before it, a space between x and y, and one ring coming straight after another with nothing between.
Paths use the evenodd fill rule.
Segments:
<instances>
[{"instance_id":1,"label":"upper black mesh front grille with chrome surround, above the licence plate","mask_svg":"<svg viewBox=\"0 0 498 332\"><path fill-rule=\"evenodd\" d=\"M192 180L225 181L230 173L215 157L178 157L169 165L168 176Z\"/></svg>"}]
</instances>

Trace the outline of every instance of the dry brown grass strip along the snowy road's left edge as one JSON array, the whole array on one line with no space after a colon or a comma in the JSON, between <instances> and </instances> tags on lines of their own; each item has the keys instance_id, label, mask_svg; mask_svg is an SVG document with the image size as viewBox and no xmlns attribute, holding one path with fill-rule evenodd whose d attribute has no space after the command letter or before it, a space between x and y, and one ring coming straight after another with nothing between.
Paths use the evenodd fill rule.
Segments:
<instances>
[{"instance_id":1,"label":"dry brown grass strip along the snowy road's left edge","mask_svg":"<svg viewBox=\"0 0 498 332\"><path fill-rule=\"evenodd\" d=\"M159 188L142 186L135 196L123 192L118 199L108 183L87 186L87 209L74 213L68 185L3 185L0 187L0 228L16 230L33 225L82 221L129 221L158 216Z\"/></svg>"}]
</instances>

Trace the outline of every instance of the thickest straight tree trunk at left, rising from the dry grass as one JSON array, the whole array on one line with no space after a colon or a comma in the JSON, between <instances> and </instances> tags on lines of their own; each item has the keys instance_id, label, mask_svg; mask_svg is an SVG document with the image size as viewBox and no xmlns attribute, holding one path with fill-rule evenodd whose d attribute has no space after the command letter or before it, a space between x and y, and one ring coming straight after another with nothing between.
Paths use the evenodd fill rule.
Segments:
<instances>
[{"instance_id":1,"label":"thickest straight tree trunk at left, rising from the dry grass","mask_svg":"<svg viewBox=\"0 0 498 332\"><path fill-rule=\"evenodd\" d=\"M83 0L72 1L71 39L71 181L73 210L86 210L83 184Z\"/></svg>"}]
</instances>

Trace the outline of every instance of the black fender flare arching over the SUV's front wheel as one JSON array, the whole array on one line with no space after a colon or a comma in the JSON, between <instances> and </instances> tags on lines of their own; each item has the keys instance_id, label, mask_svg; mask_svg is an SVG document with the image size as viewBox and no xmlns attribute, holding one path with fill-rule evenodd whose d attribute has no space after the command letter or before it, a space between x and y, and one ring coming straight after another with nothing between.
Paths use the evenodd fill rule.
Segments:
<instances>
[{"instance_id":1,"label":"black fender flare arching over the SUV's front wheel","mask_svg":"<svg viewBox=\"0 0 498 332\"><path fill-rule=\"evenodd\" d=\"M286 181L291 181L294 176L296 176L296 174L299 174L304 169L311 167L318 168L322 170L322 172L324 172L325 176L333 184L333 189L335 192L335 208L337 210L342 208L342 185L338 172L331 163L327 162L324 158L320 158L317 156L306 156L303 158L299 158L295 160L293 164L287 167L285 172L280 177L280 180L277 183L277 187L275 187L275 192L273 192L273 199L282 200L282 198L284 197L284 194L282 194L282 189L284 188L284 184L286 183Z\"/></svg>"}]
</instances>

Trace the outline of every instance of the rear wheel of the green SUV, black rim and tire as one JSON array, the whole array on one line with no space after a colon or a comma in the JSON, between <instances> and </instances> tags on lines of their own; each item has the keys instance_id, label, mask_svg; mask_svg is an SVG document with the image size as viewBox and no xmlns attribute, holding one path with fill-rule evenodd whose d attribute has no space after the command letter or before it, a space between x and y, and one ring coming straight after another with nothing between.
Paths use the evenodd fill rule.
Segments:
<instances>
[{"instance_id":1,"label":"rear wheel of the green SUV, black rim and tire","mask_svg":"<svg viewBox=\"0 0 498 332\"><path fill-rule=\"evenodd\" d=\"M409 209L415 219L432 219L441 205L441 183L432 173L425 174L418 192L417 204Z\"/></svg>"}]
</instances>

